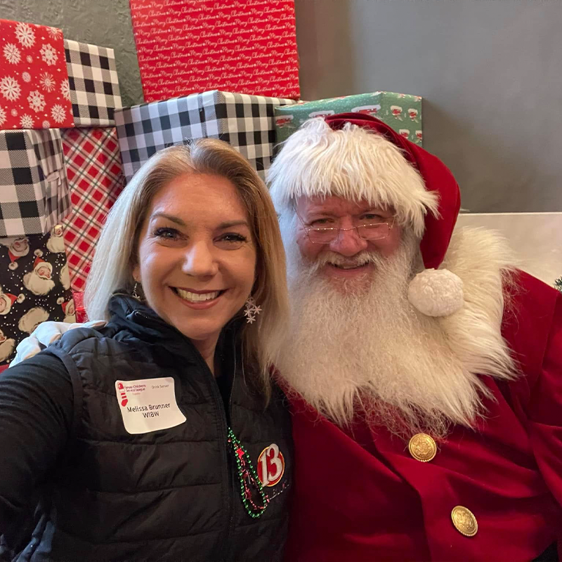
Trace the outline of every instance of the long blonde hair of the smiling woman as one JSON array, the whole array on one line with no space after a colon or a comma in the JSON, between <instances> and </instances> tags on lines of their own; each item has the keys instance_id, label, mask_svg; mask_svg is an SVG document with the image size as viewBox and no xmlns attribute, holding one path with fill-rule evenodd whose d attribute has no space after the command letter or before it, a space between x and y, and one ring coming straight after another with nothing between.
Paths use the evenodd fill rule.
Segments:
<instances>
[{"instance_id":1,"label":"long blonde hair of the smiling woman","mask_svg":"<svg viewBox=\"0 0 562 562\"><path fill-rule=\"evenodd\" d=\"M261 306L253 324L242 329L244 360L257 361L262 389L269 393L269 368L285 339L289 303L285 251L266 185L239 152L223 141L205 138L188 146L160 150L137 171L112 207L100 235L86 284L89 318L109 320L112 294L131 292L138 237L150 203L167 183L184 174L213 174L235 186L247 211L256 244L256 282L252 296Z\"/></svg>"}]
</instances>

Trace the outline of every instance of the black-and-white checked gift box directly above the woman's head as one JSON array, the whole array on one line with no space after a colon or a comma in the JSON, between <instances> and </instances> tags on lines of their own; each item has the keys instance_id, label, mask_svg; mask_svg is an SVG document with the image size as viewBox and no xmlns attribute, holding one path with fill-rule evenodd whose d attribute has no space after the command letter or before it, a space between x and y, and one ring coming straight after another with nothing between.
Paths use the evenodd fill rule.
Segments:
<instances>
[{"instance_id":1,"label":"black-and-white checked gift box directly above the woman's head","mask_svg":"<svg viewBox=\"0 0 562 562\"><path fill-rule=\"evenodd\" d=\"M220 138L246 157L262 179L275 144L275 107L285 98L212 90L115 112L126 181L158 150L195 138Z\"/></svg>"}]
</instances>

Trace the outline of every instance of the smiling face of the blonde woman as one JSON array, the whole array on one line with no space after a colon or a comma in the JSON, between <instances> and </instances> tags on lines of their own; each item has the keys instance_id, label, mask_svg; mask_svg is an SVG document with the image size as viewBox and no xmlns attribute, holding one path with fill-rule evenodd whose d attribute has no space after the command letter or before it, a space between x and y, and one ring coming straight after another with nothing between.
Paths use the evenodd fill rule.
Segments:
<instances>
[{"instance_id":1,"label":"smiling face of the blonde woman","mask_svg":"<svg viewBox=\"0 0 562 562\"><path fill-rule=\"evenodd\" d=\"M256 246L233 183L185 174L152 199L133 277L160 318L212 344L254 285Z\"/></svg>"}]
</instances>

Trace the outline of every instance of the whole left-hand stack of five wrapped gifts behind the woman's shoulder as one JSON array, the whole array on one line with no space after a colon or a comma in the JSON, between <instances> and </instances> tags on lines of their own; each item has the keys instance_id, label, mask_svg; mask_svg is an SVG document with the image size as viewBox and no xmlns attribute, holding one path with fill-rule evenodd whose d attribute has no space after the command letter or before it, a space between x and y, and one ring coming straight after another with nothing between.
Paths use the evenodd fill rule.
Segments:
<instances>
[{"instance_id":1,"label":"whole left-hand stack of five wrapped gifts behind the woman's shoulder","mask_svg":"<svg viewBox=\"0 0 562 562\"><path fill-rule=\"evenodd\" d=\"M40 322L74 322L122 188L112 49L0 20L0 368Z\"/></svg>"}]
</instances>

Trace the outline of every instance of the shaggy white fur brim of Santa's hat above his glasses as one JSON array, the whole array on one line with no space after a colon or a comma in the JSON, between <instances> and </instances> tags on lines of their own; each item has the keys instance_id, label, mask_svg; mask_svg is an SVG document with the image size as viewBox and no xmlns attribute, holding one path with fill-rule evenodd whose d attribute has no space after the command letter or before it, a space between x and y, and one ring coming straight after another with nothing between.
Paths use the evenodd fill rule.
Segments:
<instances>
[{"instance_id":1,"label":"shaggy white fur brim of Santa's hat above his glasses","mask_svg":"<svg viewBox=\"0 0 562 562\"><path fill-rule=\"evenodd\" d=\"M426 191L419 172L386 138L346 123L334 131L321 117L308 119L282 145L268 170L275 209L286 221L298 197L337 195L394 207L400 226L424 233L427 212L438 213L438 197Z\"/></svg>"}]
</instances>

